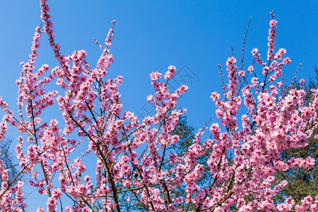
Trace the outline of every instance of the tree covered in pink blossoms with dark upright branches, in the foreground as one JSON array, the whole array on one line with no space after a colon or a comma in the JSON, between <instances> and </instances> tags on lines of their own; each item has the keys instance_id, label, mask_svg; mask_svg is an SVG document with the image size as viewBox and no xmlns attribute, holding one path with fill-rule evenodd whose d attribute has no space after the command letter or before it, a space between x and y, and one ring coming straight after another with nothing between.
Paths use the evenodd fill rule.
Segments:
<instances>
[{"instance_id":1,"label":"tree covered in pink blossoms with dark upright branches, in the foreground","mask_svg":"<svg viewBox=\"0 0 318 212\"><path fill-rule=\"evenodd\" d=\"M106 77L114 60L110 47L115 21L105 47L96 41L102 54L93 68L84 50L69 56L59 52L47 0L41 0L40 6L42 24L35 29L30 59L21 63L16 81L18 114L0 100L5 113L0 139L9 125L20 133L16 144L20 172L16 178L9 180L8 170L0 163L1 211L25 211L24 182L16 179L27 174L31 176L28 184L47 196L47 207L39 206L37 211L123 211L129 204L138 204L143 211L185 211L188 209L180 206L186 204L194 205L194 211L317 211L318 196L305 197L301 205L295 205L291 197L280 203L272 200L286 185L283 181L273 187L276 170L314 165L310 157L284 161L280 153L307 145L317 128L318 109L317 90L312 90L307 106L303 89L292 89L288 95L278 92L284 86L283 66L291 60L285 57L285 49L275 50L277 21L273 13L266 61L258 49L253 49L254 62L247 70L243 62L238 68L236 59L228 58L223 98L219 93L211 94L220 122L200 129L188 150L177 154L168 148L179 140L172 130L187 111L176 109L187 86L167 88L175 66L169 66L165 74L150 74L154 94L147 100L155 105L156 114L137 119L132 112L122 112L122 76ZM54 69L47 64L35 69L42 33L48 35L59 61ZM262 69L260 77L254 71L257 66ZM58 88L48 90L54 83ZM62 122L43 117L52 105L59 105ZM213 139L203 139L206 129ZM79 149L85 150L78 153ZM232 163L229 151L234 155ZM196 158L206 152L212 180L199 187L196 182L205 170ZM95 172L86 170L86 158L95 160ZM169 170L165 169L167 163ZM179 187L185 187L184 198L173 192ZM119 201L123 198L125 202Z\"/></svg>"}]
</instances>

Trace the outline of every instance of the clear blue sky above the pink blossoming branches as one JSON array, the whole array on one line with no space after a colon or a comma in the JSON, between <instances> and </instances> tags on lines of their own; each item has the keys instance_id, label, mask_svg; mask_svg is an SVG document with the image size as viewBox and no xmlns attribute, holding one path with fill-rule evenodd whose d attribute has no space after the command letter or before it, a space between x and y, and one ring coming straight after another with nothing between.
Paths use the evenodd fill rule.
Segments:
<instances>
[{"instance_id":1,"label":"clear blue sky above the pink blossoming branches","mask_svg":"<svg viewBox=\"0 0 318 212\"><path fill-rule=\"evenodd\" d=\"M114 64L108 73L124 76L124 110L144 112L146 96L153 93L151 71L165 72L170 65L177 69L187 65L197 78L188 84L189 93L182 97L179 107L187 107L188 122L196 129L214 117L215 107L209 97L211 91L220 90L218 64L225 70L230 45L240 59L250 16L246 65L252 61L250 52L254 47L266 57L272 10L278 20L276 49L287 49L292 59L292 64L283 69L286 81L290 81L299 63L299 76L307 78L318 61L317 1L54 0L48 4L61 52L71 54L74 49L85 49L92 66L100 55L93 38L103 42L110 21L117 20L111 49ZM19 63L28 61L39 16L39 1L0 0L0 95L12 108L16 107ZM43 63L51 68L57 65L47 37L41 41L37 67ZM172 82L172 86L176 84Z\"/></svg>"}]
</instances>

